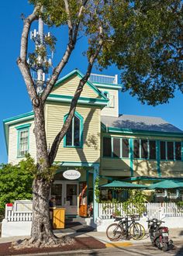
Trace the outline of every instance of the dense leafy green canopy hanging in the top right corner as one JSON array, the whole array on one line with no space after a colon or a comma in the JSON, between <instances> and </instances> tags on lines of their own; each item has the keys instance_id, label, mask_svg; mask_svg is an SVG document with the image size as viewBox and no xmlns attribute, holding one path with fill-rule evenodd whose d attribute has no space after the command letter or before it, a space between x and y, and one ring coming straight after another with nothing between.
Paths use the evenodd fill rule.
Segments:
<instances>
[{"instance_id":1,"label":"dense leafy green canopy hanging in the top right corner","mask_svg":"<svg viewBox=\"0 0 183 256\"><path fill-rule=\"evenodd\" d=\"M149 105L183 92L182 1L121 1L113 7L112 43L103 49L102 67L116 64L123 92Z\"/></svg>"}]
</instances>

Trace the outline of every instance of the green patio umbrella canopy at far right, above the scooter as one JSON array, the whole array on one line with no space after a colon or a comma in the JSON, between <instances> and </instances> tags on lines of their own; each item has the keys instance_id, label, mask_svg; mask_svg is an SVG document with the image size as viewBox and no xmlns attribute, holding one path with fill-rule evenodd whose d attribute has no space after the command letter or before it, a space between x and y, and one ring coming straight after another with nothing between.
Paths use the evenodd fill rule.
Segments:
<instances>
[{"instance_id":1,"label":"green patio umbrella canopy at far right, above the scooter","mask_svg":"<svg viewBox=\"0 0 183 256\"><path fill-rule=\"evenodd\" d=\"M149 185L147 189L183 189L183 182L166 180Z\"/></svg>"}]
</instances>

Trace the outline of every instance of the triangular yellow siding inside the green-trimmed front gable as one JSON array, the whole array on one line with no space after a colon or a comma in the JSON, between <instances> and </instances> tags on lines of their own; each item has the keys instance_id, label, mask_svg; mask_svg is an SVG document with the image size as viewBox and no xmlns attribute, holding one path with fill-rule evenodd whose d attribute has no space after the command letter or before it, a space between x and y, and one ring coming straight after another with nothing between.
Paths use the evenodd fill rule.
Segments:
<instances>
[{"instance_id":1,"label":"triangular yellow siding inside the green-trimmed front gable","mask_svg":"<svg viewBox=\"0 0 183 256\"><path fill-rule=\"evenodd\" d=\"M80 78L77 75L74 75L72 78L68 78L60 85L54 87L54 90L51 92L52 94L56 95L69 95L74 96L74 92L78 87ZM81 92L81 97L86 98L94 98L100 99L101 97L98 96L97 92L95 92L89 85L85 84L83 88L83 92Z\"/></svg>"}]
</instances>

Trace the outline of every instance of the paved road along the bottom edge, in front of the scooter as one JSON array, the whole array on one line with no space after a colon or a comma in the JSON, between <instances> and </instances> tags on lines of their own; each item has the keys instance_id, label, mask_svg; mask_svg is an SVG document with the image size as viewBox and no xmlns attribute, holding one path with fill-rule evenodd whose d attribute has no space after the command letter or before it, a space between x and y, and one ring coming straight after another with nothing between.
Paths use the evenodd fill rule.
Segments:
<instances>
[{"instance_id":1,"label":"paved road along the bottom edge, in front of the scooter","mask_svg":"<svg viewBox=\"0 0 183 256\"><path fill-rule=\"evenodd\" d=\"M152 247L148 244L144 245L136 245L130 247L120 247L120 248L106 248L101 250L91 250L91 251L72 251L72 252L64 252L63 254L54 254L54 256L58 255L94 255L94 256L183 256L183 243L176 244L173 250L163 252L157 249L156 247Z\"/></svg>"}]
</instances>

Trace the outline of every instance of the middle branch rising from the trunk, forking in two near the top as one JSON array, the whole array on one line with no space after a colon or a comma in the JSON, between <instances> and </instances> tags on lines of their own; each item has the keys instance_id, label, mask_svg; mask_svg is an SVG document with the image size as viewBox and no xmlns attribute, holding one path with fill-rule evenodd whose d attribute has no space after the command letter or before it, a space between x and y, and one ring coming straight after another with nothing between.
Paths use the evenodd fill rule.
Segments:
<instances>
[{"instance_id":1,"label":"middle branch rising from the trunk, forking in two near the top","mask_svg":"<svg viewBox=\"0 0 183 256\"><path fill-rule=\"evenodd\" d=\"M70 10L68 7L68 2L67 2L67 0L64 0L64 2L65 2L66 12L68 14L67 25L68 25L68 29L69 29L69 40L68 40L67 49L65 50L64 56L62 57L60 63L57 64L57 67L54 68L54 71L50 78L50 81L47 84L47 88L45 88L43 91L43 94L41 97L43 104L47 100L47 96L50 94L51 90L54 88L54 85L57 81L57 78L58 78L60 72L63 70L65 64L67 64L67 61L69 60L69 57L71 56L71 53L74 50L74 46L77 41L78 30L79 30L79 26L80 26L80 22L81 22L81 20L80 20L81 14L82 14L83 9L85 8L85 5L87 4L88 0L85 0L83 2L83 4L81 5L81 8L78 12L78 22L75 25L74 31L73 31L73 24L71 22L71 16L70 16Z\"/></svg>"}]
</instances>

